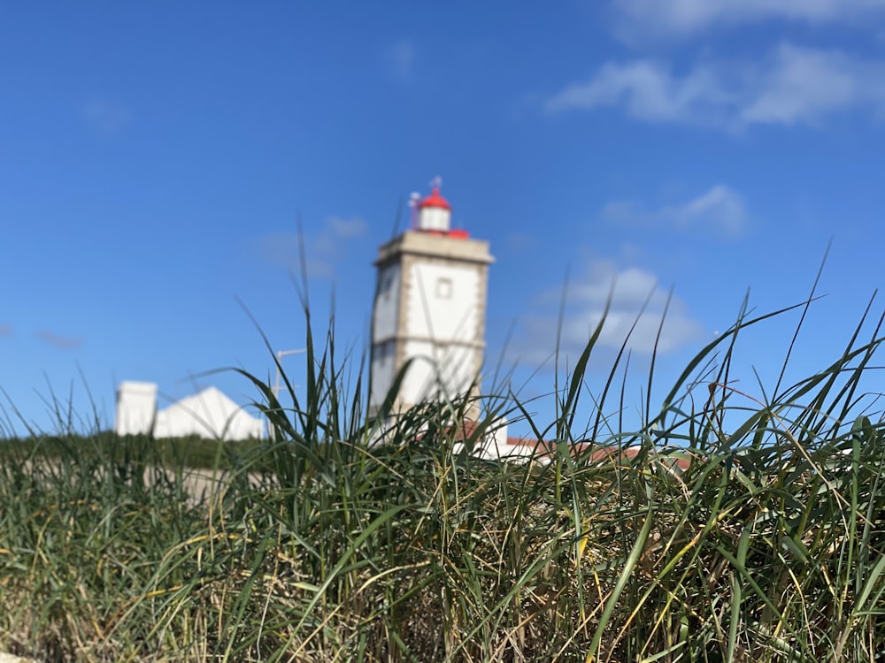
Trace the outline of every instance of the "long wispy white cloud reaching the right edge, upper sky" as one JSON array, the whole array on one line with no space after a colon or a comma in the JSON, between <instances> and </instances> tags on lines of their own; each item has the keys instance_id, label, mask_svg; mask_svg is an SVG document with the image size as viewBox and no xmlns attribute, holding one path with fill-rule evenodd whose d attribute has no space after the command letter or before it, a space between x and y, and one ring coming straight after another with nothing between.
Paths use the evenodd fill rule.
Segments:
<instances>
[{"instance_id":1,"label":"long wispy white cloud reaching the right edge, upper sky","mask_svg":"<svg viewBox=\"0 0 885 663\"><path fill-rule=\"evenodd\" d=\"M610 62L545 103L551 113L621 108L632 118L738 129L819 125L838 112L885 115L885 61L782 44L762 62L710 62L675 73L661 62Z\"/></svg>"}]
</instances>

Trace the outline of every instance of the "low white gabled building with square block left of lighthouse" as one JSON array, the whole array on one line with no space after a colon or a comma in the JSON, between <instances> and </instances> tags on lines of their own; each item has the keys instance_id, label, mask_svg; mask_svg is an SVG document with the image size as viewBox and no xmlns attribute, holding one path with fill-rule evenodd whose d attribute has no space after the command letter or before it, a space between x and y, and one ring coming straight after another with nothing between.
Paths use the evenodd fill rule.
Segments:
<instances>
[{"instance_id":1,"label":"low white gabled building with square block left of lighthouse","mask_svg":"<svg viewBox=\"0 0 885 663\"><path fill-rule=\"evenodd\" d=\"M157 409L157 385L122 382L117 391L114 431L118 435L154 438L261 438L264 422L250 415L215 387Z\"/></svg>"}]
</instances>

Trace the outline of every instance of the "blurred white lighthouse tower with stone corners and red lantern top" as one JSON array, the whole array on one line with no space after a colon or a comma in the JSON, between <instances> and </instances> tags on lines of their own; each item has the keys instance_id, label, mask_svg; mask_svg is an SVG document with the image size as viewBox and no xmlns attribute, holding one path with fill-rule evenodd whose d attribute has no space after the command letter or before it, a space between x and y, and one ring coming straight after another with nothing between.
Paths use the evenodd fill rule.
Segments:
<instances>
[{"instance_id":1,"label":"blurred white lighthouse tower with stone corners and red lantern top","mask_svg":"<svg viewBox=\"0 0 885 663\"><path fill-rule=\"evenodd\" d=\"M412 359L395 412L436 399L479 396L485 349L489 242L451 229L451 206L433 190L417 203L413 227L381 246L372 316L370 410ZM468 413L479 414L473 402Z\"/></svg>"}]
</instances>

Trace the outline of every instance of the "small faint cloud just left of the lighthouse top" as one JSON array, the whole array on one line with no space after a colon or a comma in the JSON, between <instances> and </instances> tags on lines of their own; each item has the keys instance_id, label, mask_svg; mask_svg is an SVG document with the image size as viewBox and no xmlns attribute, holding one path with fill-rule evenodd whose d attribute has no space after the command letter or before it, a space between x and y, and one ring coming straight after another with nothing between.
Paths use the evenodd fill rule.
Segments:
<instances>
[{"instance_id":1,"label":"small faint cloud just left of the lighthouse top","mask_svg":"<svg viewBox=\"0 0 885 663\"><path fill-rule=\"evenodd\" d=\"M368 227L361 217L328 217L318 231L304 232L304 237L297 232L273 232L259 238L258 255L269 263L298 272L304 242L308 276L333 278L335 266L346 257L350 242L363 237Z\"/></svg>"}]
</instances>

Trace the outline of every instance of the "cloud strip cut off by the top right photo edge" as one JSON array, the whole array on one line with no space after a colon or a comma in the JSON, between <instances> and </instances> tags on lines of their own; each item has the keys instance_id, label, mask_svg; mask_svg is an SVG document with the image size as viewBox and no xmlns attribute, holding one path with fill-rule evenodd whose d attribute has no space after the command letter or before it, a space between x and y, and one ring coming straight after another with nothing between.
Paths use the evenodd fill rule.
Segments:
<instances>
[{"instance_id":1,"label":"cloud strip cut off by the top right photo edge","mask_svg":"<svg viewBox=\"0 0 885 663\"><path fill-rule=\"evenodd\" d=\"M764 20L824 23L885 14L882 0L613 0L620 30L689 34Z\"/></svg>"}]
</instances>

